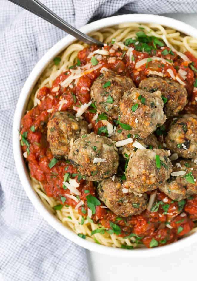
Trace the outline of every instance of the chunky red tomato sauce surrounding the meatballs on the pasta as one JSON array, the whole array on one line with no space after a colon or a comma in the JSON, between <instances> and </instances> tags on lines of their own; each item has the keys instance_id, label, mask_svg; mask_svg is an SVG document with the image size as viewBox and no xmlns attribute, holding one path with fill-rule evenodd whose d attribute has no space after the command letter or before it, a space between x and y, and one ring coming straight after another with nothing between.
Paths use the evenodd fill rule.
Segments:
<instances>
[{"instance_id":1,"label":"chunky red tomato sauce surrounding the meatballs on the pasta","mask_svg":"<svg viewBox=\"0 0 197 281\"><path fill-rule=\"evenodd\" d=\"M134 45L130 44L129 47L134 47ZM89 55L96 49L98 49L97 46L91 46L78 53L81 66L90 64ZM105 46L104 49L109 51L112 46ZM193 62L193 67L197 68L197 59L189 52L186 52L186 55ZM150 59L139 69L135 68L136 62L153 56L173 61L174 64L153 63ZM109 57L113 57L113 59L109 61ZM163 72L165 76L170 77L167 69L170 68L174 75L178 75L178 69L183 69L187 72L185 82L190 99L185 110L186 112L194 112L196 108L196 96L193 92L196 74L191 70L188 62L183 61L175 52L171 52L168 47L158 48L149 53L134 49L132 58L121 48L115 48L113 52L109 52L108 56L102 56L99 64L102 67L116 71L120 75L130 76L136 86L139 85L142 79L147 77L148 70ZM73 68L76 69L76 66ZM68 87L62 87L61 82L72 75L72 68L61 73L53 81L51 88L43 87L39 90L37 95L39 104L29 110L21 122L21 145L23 152L27 152L26 159L31 176L43 184L47 196L59 200L61 204L72 207L75 207L78 202L67 197L71 193L69 189L65 189L63 181L65 180L65 175L76 179L80 184L78 190L81 192L77 199L84 201L84 205L80 206L78 211L84 217L87 216L88 208L86 197L88 195L96 197L95 186L93 182L83 179L69 161L53 158L47 141L47 122L57 110L74 113L73 106L76 109L81 104L88 103L90 101L90 87L93 81L101 75L100 69L92 72L87 71L87 74L81 76L77 83L72 81ZM62 100L67 102L62 103L60 109L60 101ZM92 130L98 133L98 129L103 124L99 120L97 122L92 121L95 112L94 106L90 107L84 113L84 118L88 123L92 123ZM113 123L111 118L108 121ZM197 219L197 196L177 202L158 191L155 202L153 211L146 210L139 215L128 218L117 217L109 209L103 208L103 203L101 205L97 204L92 219L95 223L101 223L107 229L112 228L114 233L121 237L135 237L137 244L144 243L147 247L172 243L194 227L193 220ZM114 225L116 225L115 228Z\"/></svg>"}]
</instances>

